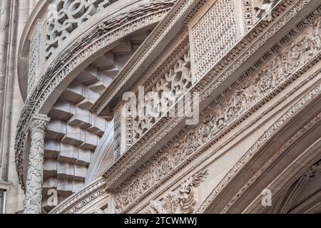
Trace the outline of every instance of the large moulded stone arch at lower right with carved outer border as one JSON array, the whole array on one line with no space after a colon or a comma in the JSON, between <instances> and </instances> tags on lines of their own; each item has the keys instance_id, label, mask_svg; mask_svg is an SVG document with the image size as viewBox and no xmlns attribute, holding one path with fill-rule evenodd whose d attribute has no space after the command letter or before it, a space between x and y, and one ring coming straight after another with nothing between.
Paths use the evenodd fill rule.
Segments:
<instances>
[{"instance_id":1,"label":"large moulded stone arch at lower right with carved outer border","mask_svg":"<svg viewBox=\"0 0 321 228\"><path fill-rule=\"evenodd\" d=\"M245 152L197 213L263 212L262 191L275 197L320 160L320 83L305 93ZM295 124L293 124L295 123Z\"/></svg>"}]
</instances>

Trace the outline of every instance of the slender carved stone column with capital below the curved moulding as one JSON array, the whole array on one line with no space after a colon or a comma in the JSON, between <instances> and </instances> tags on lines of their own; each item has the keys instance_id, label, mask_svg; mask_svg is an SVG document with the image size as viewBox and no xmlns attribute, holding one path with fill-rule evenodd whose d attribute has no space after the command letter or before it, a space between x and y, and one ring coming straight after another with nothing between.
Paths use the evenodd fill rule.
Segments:
<instances>
[{"instance_id":1,"label":"slender carved stone column with capital below the curved moulding","mask_svg":"<svg viewBox=\"0 0 321 228\"><path fill-rule=\"evenodd\" d=\"M50 118L46 115L33 115L31 120L31 147L26 179L25 214L41 214L44 177L44 138L49 120Z\"/></svg>"}]
</instances>

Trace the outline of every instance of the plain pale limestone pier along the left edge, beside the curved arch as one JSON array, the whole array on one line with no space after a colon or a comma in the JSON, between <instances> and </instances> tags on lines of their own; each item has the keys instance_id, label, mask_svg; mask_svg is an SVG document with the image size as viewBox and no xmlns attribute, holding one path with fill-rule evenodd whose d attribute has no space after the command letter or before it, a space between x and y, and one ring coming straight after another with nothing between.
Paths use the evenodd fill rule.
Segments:
<instances>
[{"instance_id":1,"label":"plain pale limestone pier along the left edge, beside the curved arch","mask_svg":"<svg viewBox=\"0 0 321 228\"><path fill-rule=\"evenodd\" d=\"M16 71L19 39L38 0L1 0L0 7L0 187L9 182L6 212L21 212L24 193L19 186L14 162L14 138L23 100ZM6 188L6 187L5 187Z\"/></svg>"}]
</instances>

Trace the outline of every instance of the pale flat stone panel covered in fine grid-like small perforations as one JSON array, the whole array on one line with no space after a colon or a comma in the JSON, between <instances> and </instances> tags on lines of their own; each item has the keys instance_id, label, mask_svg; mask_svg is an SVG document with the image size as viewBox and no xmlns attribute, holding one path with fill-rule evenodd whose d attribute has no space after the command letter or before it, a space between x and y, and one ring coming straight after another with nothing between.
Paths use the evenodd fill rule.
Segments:
<instances>
[{"instance_id":1,"label":"pale flat stone panel covered in fine grid-like small perforations","mask_svg":"<svg viewBox=\"0 0 321 228\"><path fill-rule=\"evenodd\" d=\"M191 28L195 81L235 44L236 25L235 1L218 0Z\"/></svg>"}]
</instances>

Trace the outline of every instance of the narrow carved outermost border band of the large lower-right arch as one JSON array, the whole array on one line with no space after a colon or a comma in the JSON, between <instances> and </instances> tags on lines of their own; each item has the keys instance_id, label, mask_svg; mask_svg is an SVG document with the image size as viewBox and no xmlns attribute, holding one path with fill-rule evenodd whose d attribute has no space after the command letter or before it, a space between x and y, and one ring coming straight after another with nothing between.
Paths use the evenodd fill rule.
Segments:
<instances>
[{"instance_id":1,"label":"narrow carved outermost border band of the large lower-right arch","mask_svg":"<svg viewBox=\"0 0 321 228\"><path fill-rule=\"evenodd\" d=\"M274 123L267 131L265 131L263 136L260 137L260 139L257 142L255 142L255 144L250 148L250 150L248 150L248 152L245 153L245 155L243 155L239 162L230 170L230 172L228 172L227 175L225 175L223 180L215 187L215 189L213 190L213 192L211 192L207 199L205 199L205 202L203 202L203 204L200 206L197 213L203 213L205 209L208 207L208 205L210 205L210 203L213 202L215 197L217 197L218 194L220 194L220 192L223 191L224 187L228 185L228 183L233 179L233 177L235 177L235 175L238 172L240 172L242 167L244 167L244 165L251 160L251 158L256 154L256 152L258 152L260 147L265 142L267 142L267 140L270 140L273 133L277 132L277 130L282 128L282 125L286 123L287 120L292 118L292 116L294 116L295 113L297 113L299 110L302 110L302 108L305 107L306 103L309 103L311 100L320 95L320 91L321 84L313 88L309 93L307 93L307 95L301 98L299 102L295 103L295 105L293 105L292 108L287 110L287 112L284 115L282 115L282 117L279 118L276 123ZM318 113L317 116L312 119L312 122L308 123L308 125L315 123L315 121L319 120L320 117L320 113ZM302 130L304 131L304 128Z\"/></svg>"}]
</instances>

